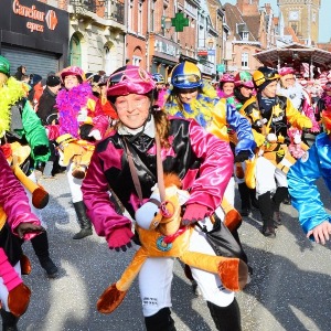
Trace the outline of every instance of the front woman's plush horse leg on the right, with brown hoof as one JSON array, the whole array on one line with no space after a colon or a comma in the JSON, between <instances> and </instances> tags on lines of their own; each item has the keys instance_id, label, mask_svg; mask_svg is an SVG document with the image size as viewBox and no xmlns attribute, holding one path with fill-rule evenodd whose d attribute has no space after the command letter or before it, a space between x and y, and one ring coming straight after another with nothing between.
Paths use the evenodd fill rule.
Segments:
<instances>
[{"instance_id":1,"label":"front woman's plush horse leg on the right, with brown hoof","mask_svg":"<svg viewBox=\"0 0 331 331\"><path fill-rule=\"evenodd\" d=\"M242 290L247 284L248 267L238 258L185 252L180 259L193 268L218 275L228 290Z\"/></svg>"}]
</instances>

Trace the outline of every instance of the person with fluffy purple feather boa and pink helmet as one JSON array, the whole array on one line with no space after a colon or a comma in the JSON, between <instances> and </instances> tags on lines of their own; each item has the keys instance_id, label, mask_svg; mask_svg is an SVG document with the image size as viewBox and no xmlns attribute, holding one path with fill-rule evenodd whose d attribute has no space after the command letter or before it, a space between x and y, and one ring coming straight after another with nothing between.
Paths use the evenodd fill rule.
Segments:
<instances>
[{"instance_id":1,"label":"person with fluffy purple feather boa and pink helmet","mask_svg":"<svg viewBox=\"0 0 331 331\"><path fill-rule=\"evenodd\" d=\"M77 66L61 72L64 88L56 96L58 109L60 163L67 167L67 180L81 231L73 236L82 239L92 235L92 224L81 191L96 141L105 135L109 121L99 99L93 95L85 74Z\"/></svg>"}]
</instances>

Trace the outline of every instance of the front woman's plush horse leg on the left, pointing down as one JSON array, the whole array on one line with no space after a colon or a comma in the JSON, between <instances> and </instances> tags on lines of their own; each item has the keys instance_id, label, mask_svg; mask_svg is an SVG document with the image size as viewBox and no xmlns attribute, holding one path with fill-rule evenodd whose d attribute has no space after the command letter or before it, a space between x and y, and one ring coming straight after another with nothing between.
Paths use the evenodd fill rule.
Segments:
<instances>
[{"instance_id":1,"label":"front woman's plush horse leg on the left, pointing down","mask_svg":"<svg viewBox=\"0 0 331 331\"><path fill-rule=\"evenodd\" d=\"M143 248L140 248L120 279L116 284L110 285L99 297L97 301L97 310L99 312L110 313L121 303L146 259L146 252Z\"/></svg>"}]
</instances>

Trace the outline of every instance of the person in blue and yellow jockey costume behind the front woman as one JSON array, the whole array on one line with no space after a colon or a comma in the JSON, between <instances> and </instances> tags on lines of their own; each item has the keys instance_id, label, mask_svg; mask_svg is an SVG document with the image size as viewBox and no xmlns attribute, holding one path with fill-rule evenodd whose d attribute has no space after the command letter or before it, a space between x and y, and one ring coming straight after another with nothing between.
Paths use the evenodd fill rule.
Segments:
<instances>
[{"instance_id":1,"label":"person in blue and yellow jockey costume behind the front woman","mask_svg":"<svg viewBox=\"0 0 331 331\"><path fill-rule=\"evenodd\" d=\"M217 97L213 86L202 79L201 71L195 64L191 62L178 64L171 73L171 85L172 89L169 90L164 105L168 114L194 118L209 132L224 141L229 141L229 127L237 136L237 143L234 146L235 161L241 162L254 157L256 143L250 124L234 107ZM233 178L226 190L225 200L234 205Z\"/></svg>"}]
</instances>

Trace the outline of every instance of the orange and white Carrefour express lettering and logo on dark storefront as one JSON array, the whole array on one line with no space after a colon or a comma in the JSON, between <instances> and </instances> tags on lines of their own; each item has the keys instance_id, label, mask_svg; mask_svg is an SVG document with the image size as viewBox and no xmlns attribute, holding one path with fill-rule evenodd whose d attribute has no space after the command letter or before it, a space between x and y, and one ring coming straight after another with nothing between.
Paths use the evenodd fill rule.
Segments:
<instances>
[{"instance_id":1,"label":"orange and white Carrefour express lettering and logo on dark storefront","mask_svg":"<svg viewBox=\"0 0 331 331\"><path fill-rule=\"evenodd\" d=\"M12 11L17 15L33 20L29 20L26 22L26 28L31 32L44 32L44 23L46 23L50 30L55 30L57 25L57 18L54 10L47 10L47 12L44 12L38 10L34 4L31 7L22 6L19 0L14 0L12 3ZM43 24L41 24L40 22L42 22Z\"/></svg>"}]
</instances>

